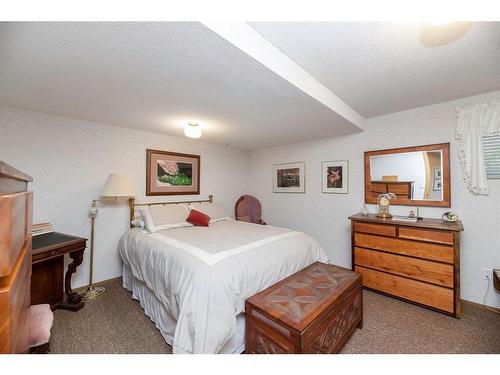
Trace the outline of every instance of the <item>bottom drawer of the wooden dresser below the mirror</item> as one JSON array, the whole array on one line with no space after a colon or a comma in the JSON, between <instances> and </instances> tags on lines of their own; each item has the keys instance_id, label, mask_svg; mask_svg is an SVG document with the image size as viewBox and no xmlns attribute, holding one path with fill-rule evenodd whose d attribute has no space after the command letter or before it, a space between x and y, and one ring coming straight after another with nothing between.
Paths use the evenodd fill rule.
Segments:
<instances>
[{"instance_id":1,"label":"bottom drawer of the wooden dresser below the mirror","mask_svg":"<svg viewBox=\"0 0 500 375\"><path fill-rule=\"evenodd\" d=\"M363 286L453 313L453 290L356 266Z\"/></svg>"}]
</instances>

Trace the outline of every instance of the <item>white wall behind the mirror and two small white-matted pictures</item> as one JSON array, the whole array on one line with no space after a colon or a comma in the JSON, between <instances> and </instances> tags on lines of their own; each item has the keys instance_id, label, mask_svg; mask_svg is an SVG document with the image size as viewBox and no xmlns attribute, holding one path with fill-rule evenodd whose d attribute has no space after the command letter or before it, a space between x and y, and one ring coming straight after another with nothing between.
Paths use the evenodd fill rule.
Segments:
<instances>
[{"instance_id":1,"label":"white wall behind the mirror and two small white-matted pictures","mask_svg":"<svg viewBox=\"0 0 500 375\"><path fill-rule=\"evenodd\" d=\"M487 281L483 267L500 268L500 180L489 181L489 196L475 196L462 182L454 140L455 108L500 100L500 91L454 102L372 118L359 134L254 151L250 155L250 189L261 200L267 223L302 230L315 237L333 263L350 267L348 216L359 212L364 200L363 152L383 148L451 143L451 210L458 213L465 231L461 246L462 298L482 303ZM304 124L307 126L307 124ZM306 161L306 193L272 192L273 163ZM349 160L349 194L321 193L321 162ZM370 207L375 212L375 207ZM397 214L409 207L394 206ZM448 208L421 208L427 217L440 217ZM500 307L500 294L490 290L488 305Z\"/></svg>"}]
</instances>

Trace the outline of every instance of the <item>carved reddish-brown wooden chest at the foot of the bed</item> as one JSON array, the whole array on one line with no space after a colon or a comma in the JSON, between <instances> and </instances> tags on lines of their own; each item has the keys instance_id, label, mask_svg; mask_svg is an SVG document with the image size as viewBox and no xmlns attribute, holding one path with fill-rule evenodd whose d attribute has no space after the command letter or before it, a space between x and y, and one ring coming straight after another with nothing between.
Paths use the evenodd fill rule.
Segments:
<instances>
[{"instance_id":1,"label":"carved reddish-brown wooden chest at the foot of the bed","mask_svg":"<svg viewBox=\"0 0 500 375\"><path fill-rule=\"evenodd\" d=\"M361 277L316 262L246 300L245 351L337 353L363 321Z\"/></svg>"}]
</instances>

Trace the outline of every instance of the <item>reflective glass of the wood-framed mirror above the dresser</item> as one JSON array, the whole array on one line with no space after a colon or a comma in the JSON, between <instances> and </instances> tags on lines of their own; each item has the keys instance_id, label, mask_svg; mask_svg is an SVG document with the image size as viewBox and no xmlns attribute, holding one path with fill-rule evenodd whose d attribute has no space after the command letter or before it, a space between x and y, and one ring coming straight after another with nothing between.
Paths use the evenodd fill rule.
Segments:
<instances>
[{"instance_id":1,"label":"reflective glass of the wood-framed mirror above the dresser","mask_svg":"<svg viewBox=\"0 0 500 375\"><path fill-rule=\"evenodd\" d=\"M442 150L370 156L371 196L442 201L442 173Z\"/></svg>"}]
</instances>

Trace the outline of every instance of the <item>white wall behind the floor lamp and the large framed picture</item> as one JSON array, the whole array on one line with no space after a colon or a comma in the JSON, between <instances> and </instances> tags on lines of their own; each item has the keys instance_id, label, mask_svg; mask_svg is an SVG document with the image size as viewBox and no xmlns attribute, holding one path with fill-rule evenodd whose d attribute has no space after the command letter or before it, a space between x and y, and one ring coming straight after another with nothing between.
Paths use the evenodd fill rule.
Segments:
<instances>
[{"instance_id":1,"label":"white wall behind the floor lamp and the large framed picture","mask_svg":"<svg viewBox=\"0 0 500 375\"><path fill-rule=\"evenodd\" d=\"M147 148L201 155L201 197L214 194L229 213L246 192L246 151L0 106L0 160L33 177L34 222L51 222L60 232L89 238L88 209L110 173L128 175L136 201L145 202ZM179 196L148 197L147 201L169 199L179 200ZM121 275L117 244L127 228L126 202L100 205L94 281ZM88 256L86 251L73 287L88 283Z\"/></svg>"}]
</instances>

